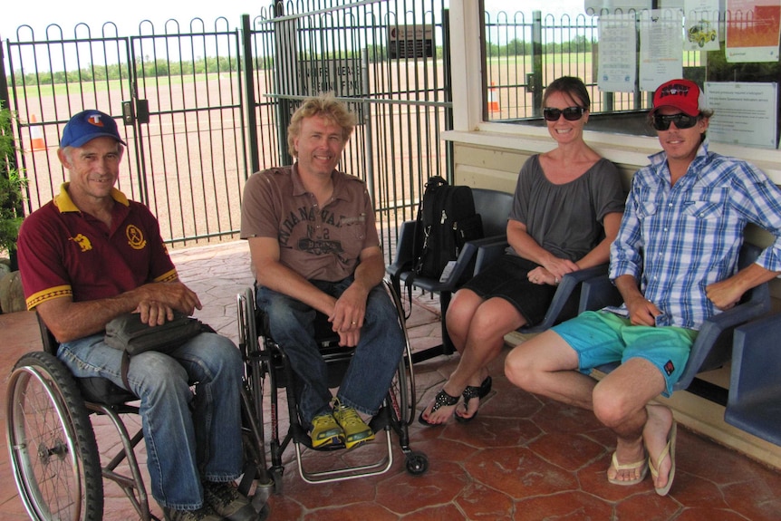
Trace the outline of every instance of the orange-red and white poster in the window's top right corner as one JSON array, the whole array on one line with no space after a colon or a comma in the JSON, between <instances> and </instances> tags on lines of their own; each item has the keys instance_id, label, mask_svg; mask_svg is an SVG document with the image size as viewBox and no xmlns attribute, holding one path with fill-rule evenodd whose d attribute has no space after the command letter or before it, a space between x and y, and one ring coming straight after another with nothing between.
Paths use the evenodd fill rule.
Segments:
<instances>
[{"instance_id":1,"label":"orange-red and white poster in the window's top right corner","mask_svg":"<svg viewBox=\"0 0 781 521\"><path fill-rule=\"evenodd\" d=\"M777 62L781 36L778 0L727 0L727 61Z\"/></svg>"}]
</instances>

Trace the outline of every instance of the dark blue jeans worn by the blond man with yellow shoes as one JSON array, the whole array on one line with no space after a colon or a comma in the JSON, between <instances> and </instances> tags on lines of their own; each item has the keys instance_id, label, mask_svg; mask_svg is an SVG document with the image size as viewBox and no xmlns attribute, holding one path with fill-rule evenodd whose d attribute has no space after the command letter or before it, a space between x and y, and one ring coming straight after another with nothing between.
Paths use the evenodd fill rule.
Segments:
<instances>
[{"instance_id":1,"label":"dark blue jeans worn by the blond man with yellow shoes","mask_svg":"<svg viewBox=\"0 0 781 521\"><path fill-rule=\"evenodd\" d=\"M338 298L352 284L352 277L310 282ZM257 305L268 316L271 336L284 349L300 380L301 420L310 424L315 416L330 412L332 400L328 371L314 343L315 310L262 286L257 289ZM369 293L361 340L336 395L342 404L364 414L376 413L399 367L404 344L396 307L382 285L377 285Z\"/></svg>"}]
</instances>

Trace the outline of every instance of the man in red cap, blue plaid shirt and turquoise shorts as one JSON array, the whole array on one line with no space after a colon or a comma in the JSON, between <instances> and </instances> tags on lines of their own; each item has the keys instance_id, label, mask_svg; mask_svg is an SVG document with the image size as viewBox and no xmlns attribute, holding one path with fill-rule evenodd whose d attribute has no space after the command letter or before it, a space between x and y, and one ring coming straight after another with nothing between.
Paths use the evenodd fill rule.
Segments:
<instances>
[{"instance_id":1,"label":"man in red cap, blue plaid shirt and turquoise shorts","mask_svg":"<svg viewBox=\"0 0 781 521\"><path fill-rule=\"evenodd\" d=\"M663 151L632 178L611 246L624 304L554 326L506 357L510 381L593 410L612 429L611 483L640 483L651 468L661 496L675 476L676 426L651 400L670 395L706 319L781 272L781 191L746 161L708 150L711 115L696 83L660 85L649 118ZM776 239L738 271L749 222ZM609 362L622 364L602 381L588 376Z\"/></svg>"}]
</instances>

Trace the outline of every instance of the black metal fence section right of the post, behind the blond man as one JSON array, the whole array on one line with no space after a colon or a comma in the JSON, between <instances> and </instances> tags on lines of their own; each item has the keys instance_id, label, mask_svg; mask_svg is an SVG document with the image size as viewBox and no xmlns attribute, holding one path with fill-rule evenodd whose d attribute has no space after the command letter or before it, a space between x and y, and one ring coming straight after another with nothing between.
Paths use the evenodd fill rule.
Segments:
<instances>
[{"instance_id":1,"label":"black metal fence section right of the post, behind the blond man","mask_svg":"<svg viewBox=\"0 0 781 521\"><path fill-rule=\"evenodd\" d=\"M448 11L437 0L363 1L284 11L254 20L257 117L280 150L260 167L290 162L284 130L308 95L333 91L359 116L340 169L366 180L386 256L414 218L430 176L452 180ZM312 5L315 3L312 2ZM318 6L322 3L316 3ZM275 140L276 139L276 140ZM274 141L275 140L275 141Z\"/></svg>"}]
</instances>

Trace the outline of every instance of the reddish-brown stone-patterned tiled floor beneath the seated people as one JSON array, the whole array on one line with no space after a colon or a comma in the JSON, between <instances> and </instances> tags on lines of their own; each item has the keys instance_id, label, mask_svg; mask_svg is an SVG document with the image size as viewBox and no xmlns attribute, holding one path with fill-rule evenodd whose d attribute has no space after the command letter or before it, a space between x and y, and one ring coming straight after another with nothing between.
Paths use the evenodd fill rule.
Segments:
<instances>
[{"instance_id":1,"label":"reddish-brown stone-patterned tiled floor beneath the seated people","mask_svg":"<svg viewBox=\"0 0 781 521\"><path fill-rule=\"evenodd\" d=\"M173 256L182 279L205 305L199 316L236 340L235 295L251 282L246 245L174 251ZM436 303L424 299L415 307L410 336L417 348L438 342L439 324L432 309ZM8 374L22 353L38 349L34 316L0 315L0 331L0 371ZM424 428L414 422L410 427L412 449L429 458L424 476L408 475L394 446L393 467L379 477L308 485L298 476L293 450L288 449L284 493L269 498L269 519L781 519L781 474L687 429L679 429L678 470L669 497L658 497L650 478L635 487L608 484L605 469L614 444L611 434L586 411L509 385L502 374L505 354L492 364L494 391L476 420L467 425L450 422L443 428ZM456 363L457 355L416 364L419 409L439 391ZM5 385L0 392L5 402ZM5 403L2 422L5 426ZM112 443L105 440L108 436L102 427L98 429L101 449ZM367 458L379 448L375 442L343 457ZM0 453L0 476L0 519L26 519L5 450ZM107 487L106 496L105 519L136 518L116 487ZM159 514L159 508L153 512Z\"/></svg>"}]
</instances>

